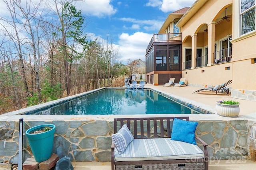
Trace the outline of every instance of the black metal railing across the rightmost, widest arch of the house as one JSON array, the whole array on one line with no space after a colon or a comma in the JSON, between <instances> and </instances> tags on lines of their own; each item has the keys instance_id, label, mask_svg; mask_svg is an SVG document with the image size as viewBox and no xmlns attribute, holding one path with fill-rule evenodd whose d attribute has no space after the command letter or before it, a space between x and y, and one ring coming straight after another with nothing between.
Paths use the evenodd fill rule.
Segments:
<instances>
[{"instance_id":1,"label":"black metal railing across the rightmost, widest arch of the house","mask_svg":"<svg viewBox=\"0 0 256 170\"><path fill-rule=\"evenodd\" d=\"M214 64L229 62L232 59L232 47L216 51L214 55Z\"/></svg>"}]
</instances>

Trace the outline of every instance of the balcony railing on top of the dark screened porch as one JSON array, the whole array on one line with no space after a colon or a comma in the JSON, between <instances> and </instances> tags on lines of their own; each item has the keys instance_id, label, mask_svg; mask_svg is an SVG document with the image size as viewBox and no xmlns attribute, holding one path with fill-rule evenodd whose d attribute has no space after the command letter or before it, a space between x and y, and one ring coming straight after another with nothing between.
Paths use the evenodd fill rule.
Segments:
<instances>
[{"instance_id":1,"label":"balcony railing on top of the dark screened porch","mask_svg":"<svg viewBox=\"0 0 256 170\"><path fill-rule=\"evenodd\" d=\"M146 53L152 46L154 42L173 42L173 41L182 41L182 33L166 33L166 34L154 34L151 38L151 41L148 44Z\"/></svg>"}]
</instances>

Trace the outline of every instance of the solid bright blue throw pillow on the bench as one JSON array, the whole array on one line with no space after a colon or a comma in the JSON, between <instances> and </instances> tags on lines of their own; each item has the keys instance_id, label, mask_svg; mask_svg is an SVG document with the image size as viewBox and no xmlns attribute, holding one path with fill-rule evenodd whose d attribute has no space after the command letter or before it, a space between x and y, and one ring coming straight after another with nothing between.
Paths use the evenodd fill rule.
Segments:
<instances>
[{"instance_id":1,"label":"solid bright blue throw pillow on the bench","mask_svg":"<svg viewBox=\"0 0 256 170\"><path fill-rule=\"evenodd\" d=\"M198 122L185 121L174 118L171 140L182 141L196 145L195 131L197 125Z\"/></svg>"}]
</instances>

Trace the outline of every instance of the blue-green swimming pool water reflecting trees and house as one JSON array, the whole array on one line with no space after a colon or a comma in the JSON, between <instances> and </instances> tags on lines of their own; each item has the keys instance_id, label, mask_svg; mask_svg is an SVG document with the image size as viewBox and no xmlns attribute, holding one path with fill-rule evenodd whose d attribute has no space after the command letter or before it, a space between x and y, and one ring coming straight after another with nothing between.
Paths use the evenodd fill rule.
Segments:
<instances>
[{"instance_id":1,"label":"blue-green swimming pool water reflecting trees and house","mask_svg":"<svg viewBox=\"0 0 256 170\"><path fill-rule=\"evenodd\" d=\"M36 115L132 115L198 113L152 90L103 89L40 110Z\"/></svg>"}]
</instances>

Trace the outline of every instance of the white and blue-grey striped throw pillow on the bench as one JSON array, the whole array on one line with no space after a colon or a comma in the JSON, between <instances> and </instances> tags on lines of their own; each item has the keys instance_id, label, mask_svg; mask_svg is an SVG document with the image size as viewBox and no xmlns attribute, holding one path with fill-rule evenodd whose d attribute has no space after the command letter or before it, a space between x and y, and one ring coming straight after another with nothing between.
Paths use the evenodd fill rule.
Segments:
<instances>
[{"instance_id":1,"label":"white and blue-grey striped throw pillow on the bench","mask_svg":"<svg viewBox=\"0 0 256 170\"><path fill-rule=\"evenodd\" d=\"M134 139L126 124L123 125L118 133L111 135L111 137L115 144L116 150L118 151L118 154L122 154L128 144Z\"/></svg>"}]
</instances>

